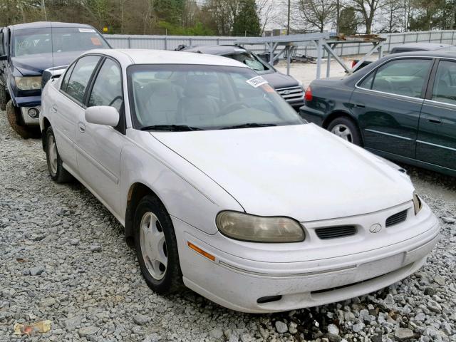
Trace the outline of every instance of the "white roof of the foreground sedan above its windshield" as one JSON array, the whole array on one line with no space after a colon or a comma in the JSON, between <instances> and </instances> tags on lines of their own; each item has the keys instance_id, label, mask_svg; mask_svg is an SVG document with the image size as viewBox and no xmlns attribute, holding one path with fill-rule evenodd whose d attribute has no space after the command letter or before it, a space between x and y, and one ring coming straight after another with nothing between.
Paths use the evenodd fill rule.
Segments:
<instances>
[{"instance_id":1,"label":"white roof of the foreground sedan above its windshield","mask_svg":"<svg viewBox=\"0 0 456 342\"><path fill-rule=\"evenodd\" d=\"M145 50L136 48L113 48L113 49L96 49L87 51L89 53L103 53L106 56L112 56L118 61L125 60L125 56L129 58L130 64L199 64L206 66L237 66L241 68L249 68L244 63L235 61L231 58L222 56L206 55L201 53L168 51L168 50Z\"/></svg>"}]
</instances>

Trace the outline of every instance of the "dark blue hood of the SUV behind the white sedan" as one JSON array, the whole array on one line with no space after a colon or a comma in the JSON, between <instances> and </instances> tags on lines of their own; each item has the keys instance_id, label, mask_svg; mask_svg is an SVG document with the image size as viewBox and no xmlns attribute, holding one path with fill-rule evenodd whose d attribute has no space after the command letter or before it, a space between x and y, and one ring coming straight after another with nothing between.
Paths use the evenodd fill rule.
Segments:
<instances>
[{"instance_id":1,"label":"dark blue hood of the SUV behind the white sedan","mask_svg":"<svg viewBox=\"0 0 456 342\"><path fill-rule=\"evenodd\" d=\"M68 66L81 51L40 53L30 56L12 57L13 66L23 76L41 75L43 70L56 66Z\"/></svg>"}]
</instances>

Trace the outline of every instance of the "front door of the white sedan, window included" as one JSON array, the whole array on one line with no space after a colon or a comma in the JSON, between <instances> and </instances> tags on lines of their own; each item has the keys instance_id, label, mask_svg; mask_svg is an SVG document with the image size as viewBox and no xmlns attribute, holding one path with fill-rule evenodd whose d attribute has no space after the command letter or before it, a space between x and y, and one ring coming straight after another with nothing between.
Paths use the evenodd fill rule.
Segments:
<instances>
[{"instance_id":1,"label":"front door of the white sedan, window included","mask_svg":"<svg viewBox=\"0 0 456 342\"><path fill-rule=\"evenodd\" d=\"M108 105L120 113L113 128L86 121L85 111L78 117L76 159L78 170L88 187L112 212L120 214L120 153L125 143L122 73L116 61L105 58L90 82L86 106Z\"/></svg>"}]
</instances>

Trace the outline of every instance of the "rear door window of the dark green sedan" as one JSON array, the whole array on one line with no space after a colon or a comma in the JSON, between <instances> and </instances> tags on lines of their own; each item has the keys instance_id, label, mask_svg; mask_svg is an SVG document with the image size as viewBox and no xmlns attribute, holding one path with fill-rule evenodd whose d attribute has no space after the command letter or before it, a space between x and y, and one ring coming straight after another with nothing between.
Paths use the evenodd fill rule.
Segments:
<instances>
[{"instance_id":1,"label":"rear door window of the dark green sedan","mask_svg":"<svg viewBox=\"0 0 456 342\"><path fill-rule=\"evenodd\" d=\"M390 61L378 68L372 90L420 98L430 65L427 59Z\"/></svg>"}]
</instances>

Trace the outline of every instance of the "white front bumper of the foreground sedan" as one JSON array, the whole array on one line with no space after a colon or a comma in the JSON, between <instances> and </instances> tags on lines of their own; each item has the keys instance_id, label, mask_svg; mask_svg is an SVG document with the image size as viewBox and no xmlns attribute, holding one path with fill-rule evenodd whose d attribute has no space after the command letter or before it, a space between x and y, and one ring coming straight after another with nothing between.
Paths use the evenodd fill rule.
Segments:
<instances>
[{"instance_id":1,"label":"white front bumper of the foreground sedan","mask_svg":"<svg viewBox=\"0 0 456 342\"><path fill-rule=\"evenodd\" d=\"M421 228L426 225L423 232L385 247L363 252L346 248L345 255L326 254L318 259L301 250L301 261L294 260L296 251L276 252L276 261L271 261L274 252L259 248L252 254L256 260L252 260L245 255L239 257L239 244L230 244L230 239L221 234L207 235L175 217L172 219L184 284L217 304L251 313L301 309L377 291L417 271L440 239L439 224L430 212L420 222ZM217 248L217 240L224 241L223 250ZM214 261L197 254L187 242L212 254ZM261 253L268 254L264 258L268 261L259 260L257 256ZM280 297L267 303L257 302L271 296Z\"/></svg>"}]
</instances>

